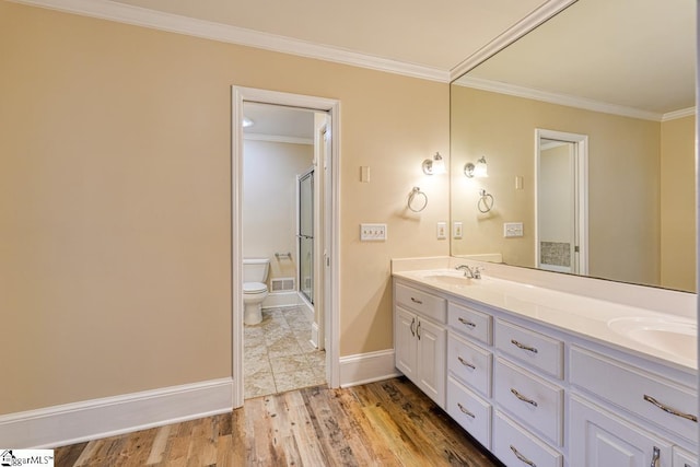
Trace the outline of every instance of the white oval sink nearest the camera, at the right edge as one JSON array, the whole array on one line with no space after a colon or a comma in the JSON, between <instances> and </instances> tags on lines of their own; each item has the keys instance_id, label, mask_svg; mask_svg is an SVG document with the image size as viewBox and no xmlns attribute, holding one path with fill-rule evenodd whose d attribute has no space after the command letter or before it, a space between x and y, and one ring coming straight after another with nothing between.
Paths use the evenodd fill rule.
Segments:
<instances>
[{"instance_id":1,"label":"white oval sink nearest the camera, at the right edge","mask_svg":"<svg viewBox=\"0 0 700 467\"><path fill-rule=\"evenodd\" d=\"M684 318L625 317L608 322L615 332L687 359L697 353L698 325Z\"/></svg>"}]
</instances>

